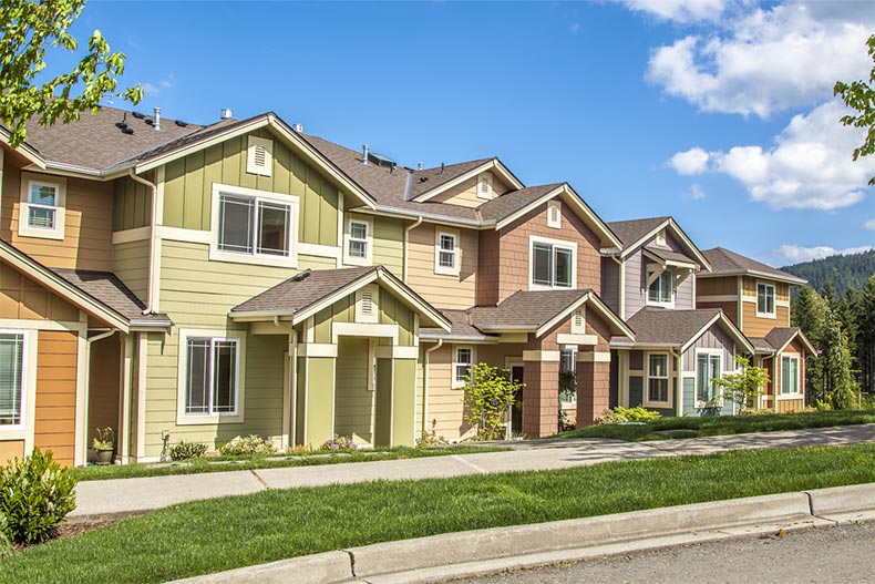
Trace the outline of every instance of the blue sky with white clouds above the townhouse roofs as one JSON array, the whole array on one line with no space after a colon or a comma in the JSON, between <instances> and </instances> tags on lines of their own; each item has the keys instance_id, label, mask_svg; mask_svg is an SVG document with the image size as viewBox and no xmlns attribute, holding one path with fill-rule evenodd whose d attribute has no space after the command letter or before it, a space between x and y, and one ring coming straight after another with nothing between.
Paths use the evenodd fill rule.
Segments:
<instances>
[{"instance_id":1,"label":"blue sky with white clouds above the townhouse roofs","mask_svg":"<svg viewBox=\"0 0 875 584\"><path fill-rule=\"evenodd\" d=\"M74 33L95 28L141 111L272 110L412 167L496 155L773 265L875 245L875 160L851 163L832 98L872 68L867 2L92 0Z\"/></svg>"}]
</instances>

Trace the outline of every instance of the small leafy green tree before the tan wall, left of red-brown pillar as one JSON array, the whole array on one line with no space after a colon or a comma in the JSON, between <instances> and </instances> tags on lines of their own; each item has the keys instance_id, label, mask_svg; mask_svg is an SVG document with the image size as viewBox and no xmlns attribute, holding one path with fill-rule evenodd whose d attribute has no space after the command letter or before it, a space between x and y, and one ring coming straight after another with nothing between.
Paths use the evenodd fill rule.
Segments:
<instances>
[{"instance_id":1,"label":"small leafy green tree before the tan wall, left of red-brown pillar","mask_svg":"<svg viewBox=\"0 0 875 584\"><path fill-rule=\"evenodd\" d=\"M465 421L477 428L477 440L501 438L504 413L513 406L523 383L515 383L507 369L477 363L471 369L471 381L465 391Z\"/></svg>"}]
</instances>

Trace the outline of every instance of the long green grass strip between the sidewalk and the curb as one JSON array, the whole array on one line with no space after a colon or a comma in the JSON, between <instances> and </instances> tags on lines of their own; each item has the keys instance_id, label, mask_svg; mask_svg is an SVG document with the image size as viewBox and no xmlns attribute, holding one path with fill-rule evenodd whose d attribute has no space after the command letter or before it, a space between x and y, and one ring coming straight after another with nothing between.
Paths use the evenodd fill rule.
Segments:
<instances>
[{"instance_id":1,"label":"long green grass strip between the sidewalk and the curb","mask_svg":"<svg viewBox=\"0 0 875 584\"><path fill-rule=\"evenodd\" d=\"M186 503L0 562L0 583L164 582L437 533L875 482L875 444L377 481Z\"/></svg>"}]
</instances>

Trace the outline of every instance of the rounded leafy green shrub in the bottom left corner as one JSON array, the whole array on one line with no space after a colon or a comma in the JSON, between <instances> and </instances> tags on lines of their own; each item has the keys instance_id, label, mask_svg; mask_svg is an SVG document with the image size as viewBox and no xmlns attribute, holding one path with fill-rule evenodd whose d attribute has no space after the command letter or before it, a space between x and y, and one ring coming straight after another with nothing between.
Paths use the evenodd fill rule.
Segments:
<instances>
[{"instance_id":1,"label":"rounded leafy green shrub in the bottom left corner","mask_svg":"<svg viewBox=\"0 0 875 584\"><path fill-rule=\"evenodd\" d=\"M52 460L52 452L33 449L0 471L0 515L6 533L16 543L39 543L76 506L76 479Z\"/></svg>"}]
</instances>

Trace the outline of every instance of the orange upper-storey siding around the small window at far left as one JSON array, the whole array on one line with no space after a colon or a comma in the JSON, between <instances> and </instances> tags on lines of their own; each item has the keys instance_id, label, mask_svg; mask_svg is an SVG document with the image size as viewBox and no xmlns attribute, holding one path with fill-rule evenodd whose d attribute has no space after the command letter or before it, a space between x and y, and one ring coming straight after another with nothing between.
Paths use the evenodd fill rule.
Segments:
<instances>
[{"instance_id":1,"label":"orange upper-storey siding around the small window at far left","mask_svg":"<svg viewBox=\"0 0 875 584\"><path fill-rule=\"evenodd\" d=\"M112 184L83 178L37 175L47 182L65 181L64 238L22 237L19 229L21 171L3 171L0 238L52 268L112 269Z\"/></svg>"}]
</instances>

